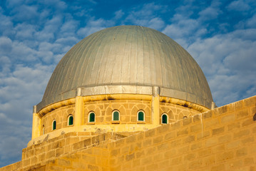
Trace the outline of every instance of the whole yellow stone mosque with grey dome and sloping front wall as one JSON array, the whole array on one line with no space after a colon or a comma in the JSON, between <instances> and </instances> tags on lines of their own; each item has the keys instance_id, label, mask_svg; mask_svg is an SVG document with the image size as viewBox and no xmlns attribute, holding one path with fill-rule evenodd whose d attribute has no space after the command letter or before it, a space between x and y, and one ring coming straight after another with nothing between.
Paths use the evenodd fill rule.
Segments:
<instances>
[{"instance_id":1,"label":"whole yellow stone mosque with grey dome and sloping front wall","mask_svg":"<svg viewBox=\"0 0 256 171\"><path fill-rule=\"evenodd\" d=\"M56 66L31 141L6 170L256 170L256 96L217 108L203 71L163 33L115 26Z\"/></svg>"}]
</instances>

